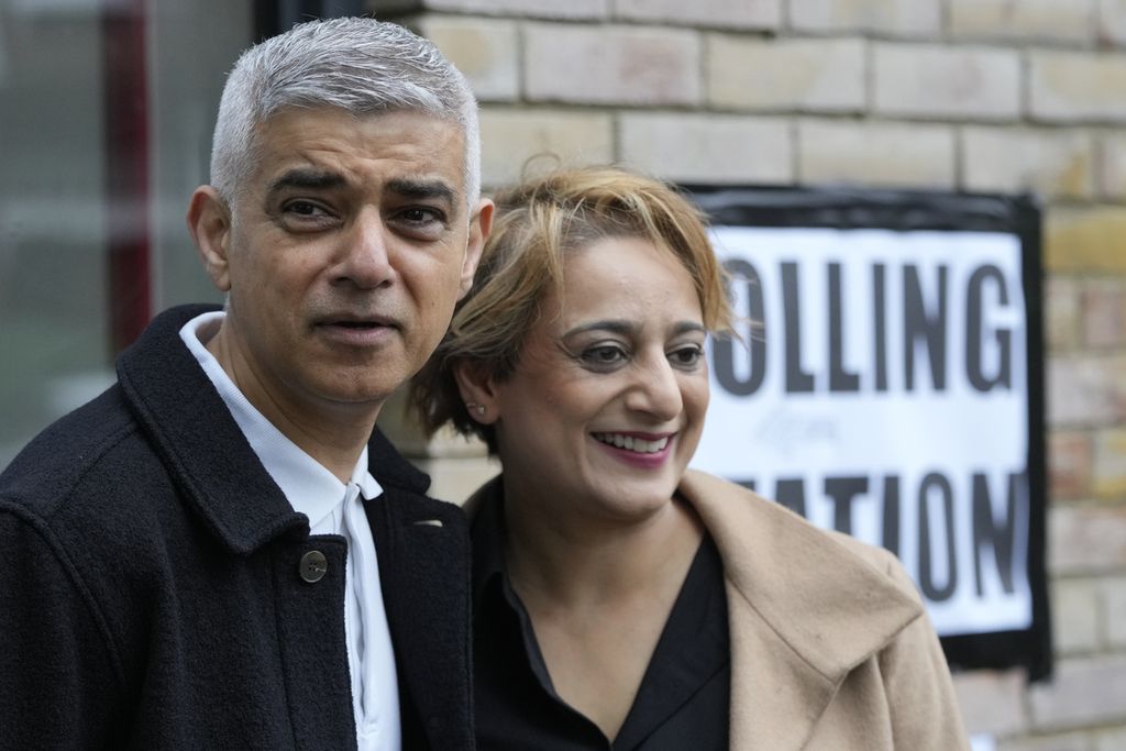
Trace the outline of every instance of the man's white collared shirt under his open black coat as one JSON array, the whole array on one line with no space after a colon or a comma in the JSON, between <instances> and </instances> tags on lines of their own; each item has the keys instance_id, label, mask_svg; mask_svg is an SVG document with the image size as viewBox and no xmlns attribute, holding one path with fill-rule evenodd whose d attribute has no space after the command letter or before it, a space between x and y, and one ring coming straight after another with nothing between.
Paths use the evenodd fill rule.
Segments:
<instances>
[{"instance_id":1,"label":"man's white collared shirt under his open black coat","mask_svg":"<svg viewBox=\"0 0 1126 751\"><path fill-rule=\"evenodd\" d=\"M395 654L379 587L375 538L364 512L364 501L377 498L383 489L367 470L367 447L345 484L274 427L204 346L218 331L224 315L217 311L191 319L180 329L180 338L215 385L270 477L294 510L309 517L310 533L341 535L347 540L342 606L356 737L360 751L397 751L402 728Z\"/></svg>"}]
</instances>

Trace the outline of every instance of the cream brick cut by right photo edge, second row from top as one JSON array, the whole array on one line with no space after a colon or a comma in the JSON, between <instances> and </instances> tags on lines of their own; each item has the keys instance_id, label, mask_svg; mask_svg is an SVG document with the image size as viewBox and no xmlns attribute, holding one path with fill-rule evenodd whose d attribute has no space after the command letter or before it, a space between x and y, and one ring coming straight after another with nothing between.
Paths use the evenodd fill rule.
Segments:
<instances>
[{"instance_id":1,"label":"cream brick cut by right photo edge, second row from top","mask_svg":"<svg viewBox=\"0 0 1126 751\"><path fill-rule=\"evenodd\" d=\"M1030 52L1028 107L1051 123L1126 122L1126 55Z\"/></svg>"}]
</instances>

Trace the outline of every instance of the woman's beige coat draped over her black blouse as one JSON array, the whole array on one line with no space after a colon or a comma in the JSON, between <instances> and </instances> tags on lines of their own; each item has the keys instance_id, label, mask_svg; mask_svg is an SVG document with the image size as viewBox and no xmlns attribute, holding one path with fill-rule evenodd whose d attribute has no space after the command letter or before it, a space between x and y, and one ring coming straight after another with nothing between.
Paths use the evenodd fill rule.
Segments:
<instances>
[{"instance_id":1,"label":"woman's beige coat draped over her black blouse","mask_svg":"<svg viewBox=\"0 0 1126 751\"><path fill-rule=\"evenodd\" d=\"M731 748L969 748L938 638L887 551L689 471L680 493L723 558Z\"/></svg>"}]
</instances>

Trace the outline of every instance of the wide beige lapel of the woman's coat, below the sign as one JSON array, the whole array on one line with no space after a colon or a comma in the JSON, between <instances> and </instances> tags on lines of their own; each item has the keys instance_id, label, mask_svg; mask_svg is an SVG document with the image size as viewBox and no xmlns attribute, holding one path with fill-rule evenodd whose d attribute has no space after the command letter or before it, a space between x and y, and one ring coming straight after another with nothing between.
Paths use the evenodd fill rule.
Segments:
<instances>
[{"instance_id":1,"label":"wide beige lapel of the woman's coat, below the sign","mask_svg":"<svg viewBox=\"0 0 1126 751\"><path fill-rule=\"evenodd\" d=\"M726 481L681 494L720 548L731 626L731 746L796 751L848 672L922 608L834 534Z\"/></svg>"}]
</instances>

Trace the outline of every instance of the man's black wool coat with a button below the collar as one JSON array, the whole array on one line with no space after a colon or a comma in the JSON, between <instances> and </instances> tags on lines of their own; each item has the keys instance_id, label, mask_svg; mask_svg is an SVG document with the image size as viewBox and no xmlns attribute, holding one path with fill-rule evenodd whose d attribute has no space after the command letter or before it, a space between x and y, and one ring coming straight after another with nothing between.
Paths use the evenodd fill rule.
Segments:
<instances>
[{"instance_id":1,"label":"man's black wool coat with a button below the collar","mask_svg":"<svg viewBox=\"0 0 1126 751\"><path fill-rule=\"evenodd\" d=\"M161 314L0 475L0 749L354 749L343 538L310 536ZM470 553L376 431L405 749L473 748ZM327 571L310 583L302 558Z\"/></svg>"}]
</instances>

